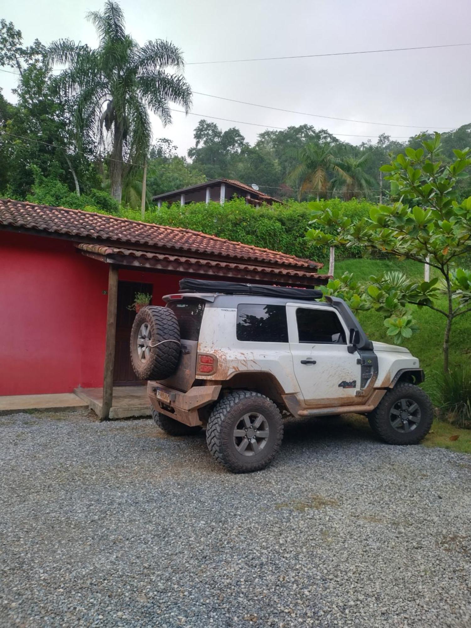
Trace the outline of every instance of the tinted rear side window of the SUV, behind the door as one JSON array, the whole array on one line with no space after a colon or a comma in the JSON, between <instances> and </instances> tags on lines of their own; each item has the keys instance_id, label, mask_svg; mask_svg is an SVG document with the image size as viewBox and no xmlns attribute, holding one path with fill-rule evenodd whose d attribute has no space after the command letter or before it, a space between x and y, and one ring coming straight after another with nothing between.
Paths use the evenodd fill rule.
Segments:
<instances>
[{"instance_id":1,"label":"tinted rear side window of the SUV, behind the door","mask_svg":"<svg viewBox=\"0 0 471 628\"><path fill-rule=\"evenodd\" d=\"M258 303L237 306L236 337L247 342L288 342L286 307Z\"/></svg>"}]
</instances>

